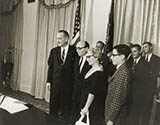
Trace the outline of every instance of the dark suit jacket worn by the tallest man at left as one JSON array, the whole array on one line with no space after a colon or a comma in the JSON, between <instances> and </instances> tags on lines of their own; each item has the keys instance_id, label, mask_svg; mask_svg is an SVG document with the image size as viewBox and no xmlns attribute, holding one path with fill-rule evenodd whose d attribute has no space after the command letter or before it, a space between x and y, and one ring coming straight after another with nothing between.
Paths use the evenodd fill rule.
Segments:
<instances>
[{"instance_id":1,"label":"dark suit jacket worn by the tallest man at left","mask_svg":"<svg viewBox=\"0 0 160 125\"><path fill-rule=\"evenodd\" d=\"M65 63L61 60L61 48L53 48L48 59L48 78L47 82L54 86L54 93L63 91L67 96L72 92L74 82L74 61L77 56L73 46L69 46ZM71 95L70 95L71 96Z\"/></svg>"}]
</instances>

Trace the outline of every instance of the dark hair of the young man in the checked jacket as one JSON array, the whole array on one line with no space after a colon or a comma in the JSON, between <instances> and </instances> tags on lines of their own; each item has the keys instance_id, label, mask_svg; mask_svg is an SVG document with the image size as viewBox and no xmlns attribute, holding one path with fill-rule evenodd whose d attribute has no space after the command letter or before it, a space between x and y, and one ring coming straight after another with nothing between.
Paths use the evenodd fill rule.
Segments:
<instances>
[{"instance_id":1,"label":"dark hair of the young man in the checked jacket","mask_svg":"<svg viewBox=\"0 0 160 125\"><path fill-rule=\"evenodd\" d=\"M124 55L125 58L127 58L130 54L130 48L125 44L116 45L115 47L113 47L113 49L116 49L118 54Z\"/></svg>"}]
</instances>

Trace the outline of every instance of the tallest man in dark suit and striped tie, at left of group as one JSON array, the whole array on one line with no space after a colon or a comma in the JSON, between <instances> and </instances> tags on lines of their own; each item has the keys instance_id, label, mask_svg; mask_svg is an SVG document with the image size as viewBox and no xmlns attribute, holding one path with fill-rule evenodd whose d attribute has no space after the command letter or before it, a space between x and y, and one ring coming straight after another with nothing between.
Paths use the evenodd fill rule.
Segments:
<instances>
[{"instance_id":1,"label":"tallest man in dark suit and striped tie, at left of group","mask_svg":"<svg viewBox=\"0 0 160 125\"><path fill-rule=\"evenodd\" d=\"M58 47L50 51L47 79L47 86L50 88L50 115L58 120L60 112L61 120L65 125L71 110L74 62L77 56L75 48L68 44L68 40L67 31L58 31Z\"/></svg>"}]
</instances>

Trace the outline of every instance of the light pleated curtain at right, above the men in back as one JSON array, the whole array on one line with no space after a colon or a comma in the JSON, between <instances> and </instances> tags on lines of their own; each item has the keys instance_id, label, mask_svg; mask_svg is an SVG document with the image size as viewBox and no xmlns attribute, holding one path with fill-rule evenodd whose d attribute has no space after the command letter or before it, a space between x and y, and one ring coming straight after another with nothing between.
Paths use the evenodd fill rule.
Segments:
<instances>
[{"instance_id":1,"label":"light pleated curtain at right, above the men in back","mask_svg":"<svg viewBox=\"0 0 160 125\"><path fill-rule=\"evenodd\" d=\"M115 0L114 45L150 41L160 56L160 1Z\"/></svg>"}]
</instances>

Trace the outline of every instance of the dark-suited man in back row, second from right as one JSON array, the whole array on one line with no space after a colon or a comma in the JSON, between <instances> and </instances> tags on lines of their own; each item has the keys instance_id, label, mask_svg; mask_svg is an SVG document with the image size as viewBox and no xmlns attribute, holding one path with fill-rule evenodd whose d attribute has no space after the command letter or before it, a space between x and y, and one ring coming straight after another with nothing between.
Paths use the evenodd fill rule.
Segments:
<instances>
[{"instance_id":1,"label":"dark-suited man in back row, second from right","mask_svg":"<svg viewBox=\"0 0 160 125\"><path fill-rule=\"evenodd\" d=\"M148 125L151 114L152 97L150 95L150 83L148 82L147 62L142 58L141 46L131 46L131 54L134 60L132 65L132 83L130 84L130 125Z\"/></svg>"}]
</instances>

